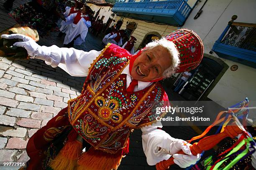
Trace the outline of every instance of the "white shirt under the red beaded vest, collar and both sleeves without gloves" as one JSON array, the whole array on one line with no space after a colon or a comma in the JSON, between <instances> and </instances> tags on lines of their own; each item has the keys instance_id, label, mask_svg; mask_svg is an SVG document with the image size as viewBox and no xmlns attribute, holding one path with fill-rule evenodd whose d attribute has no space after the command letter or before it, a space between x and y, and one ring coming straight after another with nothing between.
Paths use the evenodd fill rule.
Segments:
<instances>
[{"instance_id":1,"label":"white shirt under the red beaded vest, collar and both sleeves without gloves","mask_svg":"<svg viewBox=\"0 0 256 170\"><path fill-rule=\"evenodd\" d=\"M35 58L45 60L46 64L52 67L59 66L72 76L87 76L90 64L102 52L96 50L84 52L74 48L59 48L56 45L52 45L51 47L44 46L44 50L47 50L49 56L36 56ZM122 74L127 75L126 84L128 87L132 80L129 65L124 68ZM138 81L138 86L135 87L134 91L143 90L151 84L152 82ZM161 124L159 125L158 123L158 125L148 125L141 128L143 132L143 151L146 155L148 165L155 165L161 160L169 159L171 157L170 153L175 147L174 144L178 140L172 138L165 131L157 129L158 127L162 128Z\"/></svg>"}]
</instances>

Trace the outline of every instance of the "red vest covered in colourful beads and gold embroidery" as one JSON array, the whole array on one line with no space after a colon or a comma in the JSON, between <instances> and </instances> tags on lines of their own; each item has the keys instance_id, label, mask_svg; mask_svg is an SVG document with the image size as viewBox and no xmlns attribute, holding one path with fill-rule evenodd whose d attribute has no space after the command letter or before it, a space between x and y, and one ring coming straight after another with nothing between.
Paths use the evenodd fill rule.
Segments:
<instances>
[{"instance_id":1,"label":"red vest covered in colourful beads and gold embroidery","mask_svg":"<svg viewBox=\"0 0 256 170\"><path fill-rule=\"evenodd\" d=\"M108 44L91 64L82 94L69 100L69 121L95 149L116 153L125 147L132 129L152 124L151 101L168 100L160 83L137 92L126 91L121 74L131 54Z\"/></svg>"}]
</instances>

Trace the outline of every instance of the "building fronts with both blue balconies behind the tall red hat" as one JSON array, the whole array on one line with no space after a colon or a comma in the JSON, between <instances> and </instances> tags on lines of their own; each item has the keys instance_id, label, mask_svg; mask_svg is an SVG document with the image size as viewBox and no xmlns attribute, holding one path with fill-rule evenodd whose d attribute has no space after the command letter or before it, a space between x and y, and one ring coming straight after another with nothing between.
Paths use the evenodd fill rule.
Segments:
<instances>
[{"instance_id":1,"label":"building fronts with both blue balconies behind the tall red hat","mask_svg":"<svg viewBox=\"0 0 256 170\"><path fill-rule=\"evenodd\" d=\"M229 107L245 97L256 100L254 9L255 0L126 0L116 3L113 12L116 21L123 21L120 29L137 38L135 49L179 28L197 32L205 46L204 60L179 94L186 100L213 100ZM233 15L237 19L228 25ZM169 84L175 87L175 82Z\"/></svg>"}]
</instances>

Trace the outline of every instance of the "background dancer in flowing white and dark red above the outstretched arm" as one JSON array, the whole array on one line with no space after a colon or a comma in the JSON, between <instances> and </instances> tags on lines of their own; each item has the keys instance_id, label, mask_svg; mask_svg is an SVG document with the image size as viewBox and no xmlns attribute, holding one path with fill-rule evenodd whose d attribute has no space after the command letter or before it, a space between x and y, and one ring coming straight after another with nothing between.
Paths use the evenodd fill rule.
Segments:
<instances>
[{"instance_id":1,"label":"background dancer in flowing white and dark red above the outstretched arm","mask_svg":"<svg viewBox=\"0 0 256 170\"><path fill-rule=\"evenodd\" d=\"M74 45L81 45L85 42L88 28L91 27L91 13L90 7L84 6L81 13L69 15L66 21L62 23L62 25L70 25L64 39L64 47L74 47Z\"/></svg>"}]
</instances>

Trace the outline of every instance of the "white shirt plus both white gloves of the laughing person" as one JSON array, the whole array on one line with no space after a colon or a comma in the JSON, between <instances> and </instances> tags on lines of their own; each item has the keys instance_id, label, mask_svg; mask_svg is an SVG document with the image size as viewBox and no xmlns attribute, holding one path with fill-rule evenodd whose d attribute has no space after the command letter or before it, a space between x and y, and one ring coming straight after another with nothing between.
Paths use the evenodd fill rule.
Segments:
<instances>
[{"instance_id":1,"label":"white shirt plus both white gloves of the laughing person","mask_svg":"<svg viewBox=\"0 0 256 170\"><path fill-rule=\"evenodd\" d=\"M16 42L14 45L25 47L28 55L33 58L45 60L46 64L52 67L59 66L72 76L87 76L91 63L102 52L96 50L84 52L74 48L59 48L56 45L52 45L51 47L40 46L25 35L13 34L2 35L2 37L23 39L25 42ZM129 65L124 68L122 74L126 74L126 87L128 87L132 80ZM138 81L138 85L134 88L134 91L143 90L151 85L151 83ZM172 138L165 131L157 129L158 127L161 128L162 126L149 125L141 128L143 132L143 151L146 155L148 165L155 165L159 161L167 160L173 156L174 163L181 168L185 168L191 164L195 164L200 159L200 154L197 156L191 154L189 144L184 145L184 140ZM181 149L186 155L175 154Z\"/></svg>"}]
</instances>

